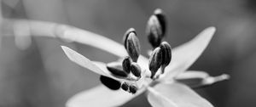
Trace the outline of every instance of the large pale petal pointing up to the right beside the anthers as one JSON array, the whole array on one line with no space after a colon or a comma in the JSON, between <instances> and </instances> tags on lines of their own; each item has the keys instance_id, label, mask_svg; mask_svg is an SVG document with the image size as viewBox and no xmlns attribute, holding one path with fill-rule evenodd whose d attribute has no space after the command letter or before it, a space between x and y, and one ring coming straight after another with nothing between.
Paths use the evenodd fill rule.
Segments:
<instances>
[{"instance_id":1,"label":"large pale petal pointing up to the right beside the anthers","mask_svg":"<svg viewBox=\"0 0 256 107\"><path fill-rule=\"evenodd\" d=\"M174 48L172 51L171 64L166 67L165 79L172 79L184 70L187 70L196 59L199 58L201 53L207 48L208 43L211 41L215 27L209 27L196 36L189 42Z\"/></svg>"}]
</instances>

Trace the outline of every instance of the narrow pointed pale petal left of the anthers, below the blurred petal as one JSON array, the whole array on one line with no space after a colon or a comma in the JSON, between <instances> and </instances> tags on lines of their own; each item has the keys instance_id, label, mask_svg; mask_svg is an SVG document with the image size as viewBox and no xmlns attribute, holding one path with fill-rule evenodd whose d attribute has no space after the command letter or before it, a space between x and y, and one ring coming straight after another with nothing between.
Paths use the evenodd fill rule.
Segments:
<instances>
[{"instance_id":1,"label":"narrow pointed pale petal left of the anthers, below the blurred petal","mask_svg":"<svg viewBox=\"0 0 256 107\"><path fill-rule=\"evenodd\" d=\"M66 53L67 58L72 60L74 63L83 66L84 68L87 68L89 70L92 70L96 72L97 74L108 76L107 72L104 72L104 70L101 70L98 66L94 65L90 59L85 58L82 54L77 53L71 48L67 48L65 46L61 46L63 51Z\"/></svg>"}]
</instances>

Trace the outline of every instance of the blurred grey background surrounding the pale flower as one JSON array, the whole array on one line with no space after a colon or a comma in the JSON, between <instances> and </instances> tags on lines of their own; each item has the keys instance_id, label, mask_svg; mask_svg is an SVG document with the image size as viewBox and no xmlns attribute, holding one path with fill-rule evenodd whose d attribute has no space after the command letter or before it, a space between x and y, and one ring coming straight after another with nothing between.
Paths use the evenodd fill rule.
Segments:
<instances>
[{"instance_id":1,"label":"blurred grey background surrounding the pale flower","mask_svg":"<svg viewBox=\"0 0 256 107\"><path fill-rule=\"evenodd\" d=\"M125 31L134 27L144 55L150 48L145 39L145 25L155 8L162 8L168 17L166 41L172 48L189 41L208 26L216 26L215 37L190 70L206 70L212 76L227 73L231 79L196 91L217 107L256 106L256 2L253 0L0 2L4 19L73 25L116 42L122 42ZM63 107L75 93L100 84L99 76L68 60L61 45L92 60L111 62L117 59L113 54L79 43L49 37L9 36L29 32L10 32L3 23L0 19L1 107ZM145 95L141 95L124 106L150 105Z\"/></svg>"}]
</instances>

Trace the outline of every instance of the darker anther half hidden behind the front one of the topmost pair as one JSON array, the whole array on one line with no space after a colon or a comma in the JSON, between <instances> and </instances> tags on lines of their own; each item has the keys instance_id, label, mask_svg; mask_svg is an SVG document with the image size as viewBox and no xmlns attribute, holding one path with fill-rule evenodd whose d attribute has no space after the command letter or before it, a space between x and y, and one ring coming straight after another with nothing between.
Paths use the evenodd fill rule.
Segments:
<instances>
[{"instance_id":1,"label":"darker anther half hidden behind the front one of the topmost pair","mask_svg":"<svg viewBox=\"0 0 256 107\"><path fill-rule=\"evenodd\" d=\"M163 11L160 8L157 8L154 10L154 14L157 17L157 19L160 22L161 30L162 30L162 36L164 37L166 34L166 14L163 13Z\"/></svg>"}]
</instances>

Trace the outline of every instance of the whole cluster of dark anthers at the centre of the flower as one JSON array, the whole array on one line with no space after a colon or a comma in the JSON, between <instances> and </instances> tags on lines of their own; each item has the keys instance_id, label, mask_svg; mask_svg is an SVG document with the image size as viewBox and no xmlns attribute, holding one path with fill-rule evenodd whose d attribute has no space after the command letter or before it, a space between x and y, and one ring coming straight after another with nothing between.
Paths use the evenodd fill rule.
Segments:
<instances>
[{"instance_id":1,"label":"whole cluster of dark anthers at the centre of the flower","mask_svg":"<svg viewBox=\"0 0 256 107\"><path fill-rule=\"evenodd\" d=\"M138 89L137 81L145 79L144 77L151 78L153 81L158 79L159 76L165 72L166 66L170 64L172 59L170 44L168 42L162 42L165 34L166 17L160 9L156 9L154 14L149 18L146 27L148 42L152 45L153 51L151 55L149 55L148 61L148 69L150 70L151 76L145 76L146 74L142 73L142 70L148 69L142 69L142 67L137 64L137 59L141 52L137 33L134 28L127 30L123 42L129 56L126 56L122 60L122 63L112 62L107 65L108 70L113 76L123 79L124 81L119 82L115 80L115 85L106 86L110 88L114 86L114 89L118 86L129 93L136 93ZM104 79L106 81L106 78ZM108 81L112 82L113 80L108 78Z\"/></svg>"}]
</instances>

